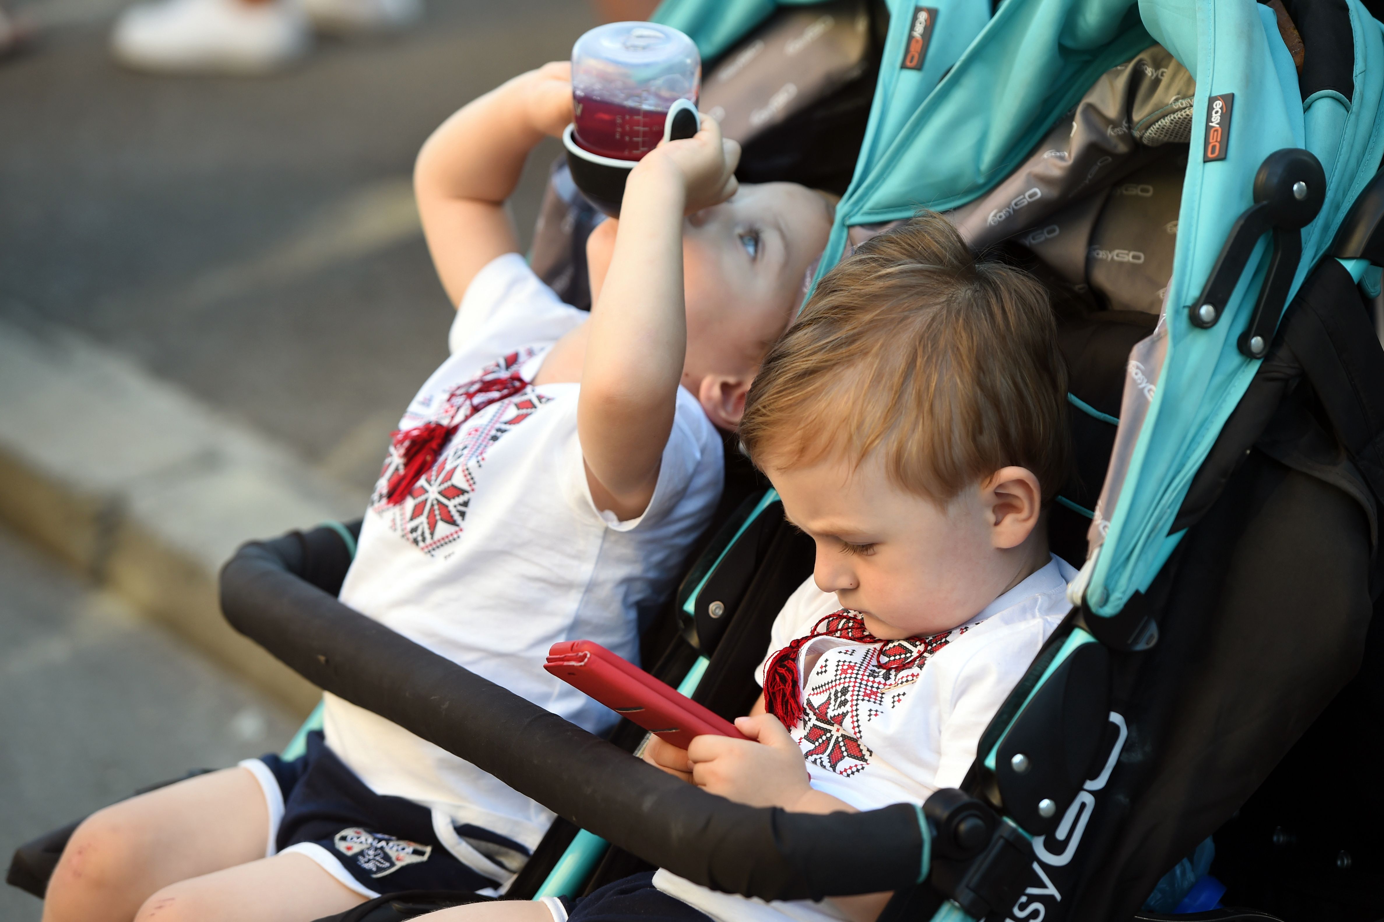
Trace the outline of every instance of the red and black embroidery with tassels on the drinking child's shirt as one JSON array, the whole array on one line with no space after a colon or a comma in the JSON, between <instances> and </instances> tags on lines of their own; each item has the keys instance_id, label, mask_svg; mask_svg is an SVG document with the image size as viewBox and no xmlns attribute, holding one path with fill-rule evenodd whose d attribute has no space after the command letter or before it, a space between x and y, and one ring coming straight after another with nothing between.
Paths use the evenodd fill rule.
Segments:
<instances>
[{"instance_id":1,"label":"red and black embroidery with tassels on the drinking child's shirt","mask_svg":"<svg viewBox=\"0 0 1384 922\"><path fill-rule=\"evenodd\" d=\"M385 518L389 528L424 553L436 557L461 538L486 451L551 399L519 377L519 368L536 351L525 348L511 352L447 391L436 409L430 409L433 398L424 398L415 401L404 415L399 426L401 433L429 426L455 431L450 444L437 446L436 462L410 489L400 489L400 477L406 476L410 458L407 445L400 446L400 440L396 438L370 499L371 509ZM475 402L480 402L475 401L476 394L487 393L482 387L511 380L515 386L505 390L513 393L475 406ZM464 429L464 422L473 424Z\"/></svg>"}]
</instances>

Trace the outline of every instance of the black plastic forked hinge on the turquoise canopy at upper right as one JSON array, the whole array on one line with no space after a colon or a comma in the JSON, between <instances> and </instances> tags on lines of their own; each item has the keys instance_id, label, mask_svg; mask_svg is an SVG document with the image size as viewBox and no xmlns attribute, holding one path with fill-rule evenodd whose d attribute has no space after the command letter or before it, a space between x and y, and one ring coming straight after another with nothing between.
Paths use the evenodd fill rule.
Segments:
<instances>
[{"instance_id":1,"label":"black plastic forked hinge on the turquoise canopy at upper right","mask_svg":"<svg viewBox=\"0 0 1384 922\"><path fill-rule=\"evenodd\" d=\"M1250 322L1236 344L1248 358L1264 358L1277 326L1289 289L1302 260L1302 228L1312 223L1326 200L1326 171L1311 151L1275 151L1254 176L1254 205L1236 218L1221 247L1200 297L1187 305L1193 326L1217 325L1230 294L1244 274L1259 238L1273 231L1273 254L1259 288Z\"/></svg>"}]
</instances>

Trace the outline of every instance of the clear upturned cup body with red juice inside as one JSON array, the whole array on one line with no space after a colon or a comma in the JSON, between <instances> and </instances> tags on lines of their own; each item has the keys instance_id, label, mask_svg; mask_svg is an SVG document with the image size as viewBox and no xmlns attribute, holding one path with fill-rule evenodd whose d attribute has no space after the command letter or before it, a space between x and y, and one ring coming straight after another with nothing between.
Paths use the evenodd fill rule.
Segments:
<instances>
[{"instance_id":1,"label":"clear upturned cup body with red juice inside","mask_svg":"<svg viewBox=\"0 0 1384 922\"><path fill-rule=\"evenodd\" d=\"M612 22L572 48L577 144L601 156L638 160L663 140L677 100L696 102L702 58L692 40L653 22Z\"/></svg>"}]
</instances>

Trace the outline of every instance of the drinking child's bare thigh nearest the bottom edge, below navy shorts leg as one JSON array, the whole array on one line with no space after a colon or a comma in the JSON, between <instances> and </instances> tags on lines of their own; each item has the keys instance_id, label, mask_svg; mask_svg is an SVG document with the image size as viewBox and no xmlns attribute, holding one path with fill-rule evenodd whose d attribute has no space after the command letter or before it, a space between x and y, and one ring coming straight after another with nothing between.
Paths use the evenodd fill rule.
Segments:
<instances>
[{"instance_id":1,"label":"drinking child's bare thigh nearest the bottom edge, below navy shorts leg","mask_svg":"<svg viewBox=\"0 0 1384 922\"><path fill-rule=\"evenodd\" d=\"M364 903L320 864L289 852L156 892L136 922L313 922Z\"/></svg>"}]
</instances>

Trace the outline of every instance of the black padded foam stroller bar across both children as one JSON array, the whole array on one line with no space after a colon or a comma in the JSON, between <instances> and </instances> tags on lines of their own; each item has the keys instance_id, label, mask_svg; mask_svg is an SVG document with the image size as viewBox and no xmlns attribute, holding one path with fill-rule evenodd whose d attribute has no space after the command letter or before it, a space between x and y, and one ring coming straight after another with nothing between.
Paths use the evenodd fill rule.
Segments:
<instances>
[{"instance_id":1,"label":"black padded foam stroller bar across both children","mask_svg":"<svg viewBox=\"0 0 1384 922\"><path fill-rule=\"evenodd\" d=\"M706 793L343 605L300 579L292 539L221 570L227 621L309 681L696 883L764 900L913 886L919 811L811 816Z\"/></svg>"}]
</instances>

